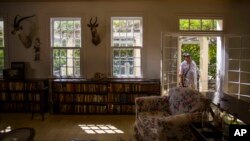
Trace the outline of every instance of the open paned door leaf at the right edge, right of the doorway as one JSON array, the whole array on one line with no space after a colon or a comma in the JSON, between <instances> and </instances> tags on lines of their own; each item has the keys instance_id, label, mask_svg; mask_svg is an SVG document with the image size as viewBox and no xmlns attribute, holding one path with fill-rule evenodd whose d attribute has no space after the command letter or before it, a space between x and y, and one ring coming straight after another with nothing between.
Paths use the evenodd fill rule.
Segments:
<instances>
[{"instance_id":1,"label":"open paned door leaf at the right edge, right of the doorway","mask_svg":"<svg viewBox=\"0 0 250 141\"><path fill-rule=\"evenodd\" d=\"M250 102L250 36L227 36L226 41L225 92Z\"/></svg>"}]
</instances>

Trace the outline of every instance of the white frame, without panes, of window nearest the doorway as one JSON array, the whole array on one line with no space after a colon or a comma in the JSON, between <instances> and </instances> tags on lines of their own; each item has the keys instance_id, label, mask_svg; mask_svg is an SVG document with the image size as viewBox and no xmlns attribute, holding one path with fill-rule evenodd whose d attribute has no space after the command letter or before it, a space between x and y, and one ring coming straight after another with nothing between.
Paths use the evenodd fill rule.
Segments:
<instances>
[{"instance_id":1,"label":"white frame, without panes, of window nearest the doorway","mask_svg":"<svg viewBox=\"0 0 250 141\"><path fill-rule=\"evenodd\" d=\"M123 45L115 45L113 43L113 20L140 20L140 31L141 31L141 46L129 46L127 44L125 44L124 46ZM117 77L117 78L142 78L142 49L143 49L143 17L142 16L111 16L111 35L110 35L110 45L111 45L111 77ZM134 37L134 36L133 36ZM132 74L132 75L126 75L126 74L118 74L118 75L114 75L113 73L113 70L114 70L114 50L134 50L134 55L135 54L139 54L138 56L134 56L133 57L133 62L135 59L139 59L139 61L137 62L137 64L139 64L137 66L137 68L139 69L138 71L138 74L139 75L136 75L136 74ZM137 53L135 53L137 52ZM128 59L128 58L126 58ZM121 60L121 58L119 59ZM127 61L127 60L126 60ZM135 64L135 62L134 62ZM119 66L119 65L118 65ZM121 66L121 65L120 65ZM133 69L135 71L135 68L136 66L133 66ZM126 70L126 69L125 69ZM121 71L121 70L120 70Z\"/></svg>"}]
</instances>

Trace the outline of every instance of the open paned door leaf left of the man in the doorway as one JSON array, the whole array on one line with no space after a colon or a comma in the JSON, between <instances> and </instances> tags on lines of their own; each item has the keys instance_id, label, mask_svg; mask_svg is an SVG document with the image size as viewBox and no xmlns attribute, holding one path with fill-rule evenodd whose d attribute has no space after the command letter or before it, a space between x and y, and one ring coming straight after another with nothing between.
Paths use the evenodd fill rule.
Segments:
<instances>
[{"instance_id":1,"label":"open paned door leaf left of the man in the doorway","mask_svg":"<svg viewBox=\"0 0 250 141\"><path fill-rule=\"evenodd\" d=\"M161 85L162 95L177 86L178 36L162 33Z\"/></svg>"}]
</instances>

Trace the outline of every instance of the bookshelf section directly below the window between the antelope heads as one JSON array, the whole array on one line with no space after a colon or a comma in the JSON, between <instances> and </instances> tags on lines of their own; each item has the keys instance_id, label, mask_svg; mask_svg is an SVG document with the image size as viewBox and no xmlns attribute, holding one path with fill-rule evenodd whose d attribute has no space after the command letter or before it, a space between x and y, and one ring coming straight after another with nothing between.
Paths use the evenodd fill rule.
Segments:
<instances>
[{"instance_id":1,"label":"bookshelf section directly below the window between the antelope heads","mask_svg":"<svg viewBox=\"0 0 250 141\"><path fill-rule=\"evenodd\" d=\"M107 82L86 79L56 79L52 82L53 111L61 114L104 114Z\"/></svg>"}]
</instances>

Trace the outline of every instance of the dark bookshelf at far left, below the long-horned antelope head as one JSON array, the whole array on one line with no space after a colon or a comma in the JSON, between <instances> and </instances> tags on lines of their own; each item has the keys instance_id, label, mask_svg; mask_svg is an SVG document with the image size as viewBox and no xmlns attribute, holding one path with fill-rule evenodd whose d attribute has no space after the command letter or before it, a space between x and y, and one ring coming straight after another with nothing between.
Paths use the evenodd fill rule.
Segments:
<instances>
[{"instance_id":1,"label":"dark bookshelf at far left, below the long-horned antelope head","mask_svg":"<svg viewBox=\"0 0 250 141\"><path fill-rule=\"evenodd\" d=\"M44 113L48 110L46 79L0 80L0 112Z\"/></svg>"}]
</instances>

